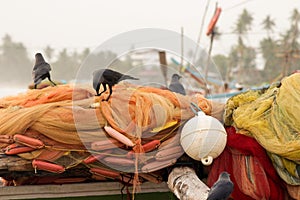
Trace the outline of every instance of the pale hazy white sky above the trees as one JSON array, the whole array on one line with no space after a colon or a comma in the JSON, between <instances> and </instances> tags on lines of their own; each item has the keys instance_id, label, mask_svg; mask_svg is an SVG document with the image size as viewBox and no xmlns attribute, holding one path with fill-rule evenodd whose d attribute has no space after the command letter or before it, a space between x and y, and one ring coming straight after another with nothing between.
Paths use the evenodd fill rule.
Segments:
<instances>
[{"instance_id":1,"label":"pale hazy white sky above the trees","mask_svg":"<svg viewBox=\"0 0 300 200\"><path fill-rule=\"evenodd\" d=\"M300 10L299 0L220 0L210 1L206 24L215 3L221 6L218 27L223 33L232 31L238 15L247 9L254 16L249 43L263 36L259 26L268 14L275 19L277 32L288 28L294 8ZM184 33L197 41L207 0L0 0L0 37L6 33L22 42L29 53L41 51L46 45L55 49L81 50L101 45L112 36L140 28L162 28ZM215 52L228 52L235 41L232 34L215 42ZM208 46L209 38L201 37Z\"/></svg>"}]
</instances>

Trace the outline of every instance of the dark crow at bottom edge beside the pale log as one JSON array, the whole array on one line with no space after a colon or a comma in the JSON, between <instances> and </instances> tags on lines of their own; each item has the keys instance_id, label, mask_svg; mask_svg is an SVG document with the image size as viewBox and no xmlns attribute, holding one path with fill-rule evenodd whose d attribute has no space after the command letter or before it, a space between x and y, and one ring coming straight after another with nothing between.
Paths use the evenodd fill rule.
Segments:
<instances>
[{"instance_id":1,"label":"dark crow at bottom edge beside the pale log","mask_svg":"<svg viewBox=\"0 0 300 200\"><path fill-rule=\"evenodd\" d=\"M222 172L208 193L207 200L226 200L233 191L233 182L230 174Z\"/></svg>"}]
</instances>

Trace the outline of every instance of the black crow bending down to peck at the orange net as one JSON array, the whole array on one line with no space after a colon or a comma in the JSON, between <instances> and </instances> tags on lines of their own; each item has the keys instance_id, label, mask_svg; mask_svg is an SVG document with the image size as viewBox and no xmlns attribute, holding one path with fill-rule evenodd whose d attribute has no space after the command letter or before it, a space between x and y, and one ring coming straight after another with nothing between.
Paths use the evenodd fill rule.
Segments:
<instances>
[{"instance_id":1,"label":"black crow bending down to peck at the orange net","mask_svg":"<svg viewBox=\"0 0 300 200\"><path fill-rule=\"evenodd\" d=\"M99 69L93 72L93 87L96 90L97 95L100 96L103 92L106 91L106 86L109 88L109 95L104 101L108 101L112 94L112 86L119 83L125 79L133 79L138 80L138 78L134 78L129 75L125 75L111 69ZM99 89L101 84L103 85L103 91L99 93Z\"/></svg>"}]
</instances>

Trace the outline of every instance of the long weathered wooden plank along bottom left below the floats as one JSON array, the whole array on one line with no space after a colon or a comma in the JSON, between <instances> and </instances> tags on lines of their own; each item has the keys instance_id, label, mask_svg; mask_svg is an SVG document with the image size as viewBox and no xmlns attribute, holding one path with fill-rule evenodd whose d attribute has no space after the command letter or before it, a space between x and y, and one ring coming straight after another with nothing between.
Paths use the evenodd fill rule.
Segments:
<instances>
[{"instance_id":1,"label":"long weathered wooden plank along bottom left below the floats","mask_svg":"<svg viewBox=\"0 0 300 200\"><path fill-rule=\"evenodd\" d=\"M32 199L56 197L81 197L121 194L123 185L118 182L76 183L63 185L6 186L0 188L0 199ZM129 188L132 191L132 188ZM169 192L165 182L145 182L138 193ZM123 191L126 193L126 191Z\"/></svg>"}]
</instances>

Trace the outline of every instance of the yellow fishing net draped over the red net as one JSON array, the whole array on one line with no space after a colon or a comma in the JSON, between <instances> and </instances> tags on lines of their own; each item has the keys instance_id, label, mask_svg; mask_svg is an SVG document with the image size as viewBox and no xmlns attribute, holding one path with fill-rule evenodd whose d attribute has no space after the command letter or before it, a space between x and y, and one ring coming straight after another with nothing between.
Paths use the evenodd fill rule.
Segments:
<instances>
[{"instance_id":1,"label":"yellow fishing net draped over the red net","mask_svg":"<svg viewBox=\"0 0 300 200\"><path fill-rule=\"evenodd\" d=\"M279 175L300 185L300 74L266 91L234 96L225 106L225 125L254 137L269 153ZM278 157L279 156L279 157Z\"/></svg>"}]
</instances>

